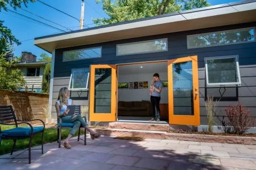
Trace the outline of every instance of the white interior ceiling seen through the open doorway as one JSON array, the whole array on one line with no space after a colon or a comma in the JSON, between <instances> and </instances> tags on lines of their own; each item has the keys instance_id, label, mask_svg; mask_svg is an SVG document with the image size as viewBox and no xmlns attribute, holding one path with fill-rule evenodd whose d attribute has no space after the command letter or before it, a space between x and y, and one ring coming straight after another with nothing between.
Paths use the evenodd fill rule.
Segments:
<instances>
[{"instance_id":1,"label":"white interior ceiling seen through the open doorway","mask_svg":"<svg viewBox=\"0 0 256 170\"><path fill-rule=\"evenodd\" d=\"M142 68L141 68L142 67ZM141 63L118 66L118 75L167 73L167 62Z\"/></svg>"}]
</instances>

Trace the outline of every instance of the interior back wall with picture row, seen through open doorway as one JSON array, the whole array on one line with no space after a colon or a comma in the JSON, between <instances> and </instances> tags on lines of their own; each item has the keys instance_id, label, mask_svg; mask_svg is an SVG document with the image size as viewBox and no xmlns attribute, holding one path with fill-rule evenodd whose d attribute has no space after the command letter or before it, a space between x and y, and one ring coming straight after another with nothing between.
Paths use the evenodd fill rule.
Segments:
<instances>
[{"instance_id":1,"label":"interior back wall with picture row, seen through open doorway","mask_svg":"<svg viewBox=\"0 0 256 170\"><path fill-rule=\"evenodd\" d=\"M129 83L129 82L148 82L148 88L144 89L118 89L118 101L150 101L150 83L152 75L154 73L143 73L143 74L129 74L129 75L118 75L118 83ZM161 80L167 80L167 72L159 73ZM168 103L168 87L163 87L161 92L160 104Z\"/></svg>"}]
</instances>

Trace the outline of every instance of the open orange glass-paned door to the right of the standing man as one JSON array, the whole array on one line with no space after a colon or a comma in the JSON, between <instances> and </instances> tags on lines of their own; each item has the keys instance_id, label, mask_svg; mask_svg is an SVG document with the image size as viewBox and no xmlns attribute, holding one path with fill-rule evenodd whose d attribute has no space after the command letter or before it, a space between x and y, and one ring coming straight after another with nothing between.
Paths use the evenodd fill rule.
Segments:
<instances>
[{"instance_id":1,"label":"open orange glass-paned door to the right of the standing man","mask_svg":"<svg viewBox=\"0 0 256 170\"><path fill-rule=\"evenodd\" d=\"M197 56L168 61L169 123L200 125Z\"/></svg>"}]
</instances>

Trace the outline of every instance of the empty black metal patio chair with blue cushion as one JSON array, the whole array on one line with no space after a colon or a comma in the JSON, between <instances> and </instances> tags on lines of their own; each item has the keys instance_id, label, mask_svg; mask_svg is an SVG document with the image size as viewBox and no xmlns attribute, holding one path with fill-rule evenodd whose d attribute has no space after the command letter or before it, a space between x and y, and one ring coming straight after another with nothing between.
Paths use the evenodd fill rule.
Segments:
<instances>
[{"instance_id":1,"label":"empty black metal patio chair with blue cushion","mask_svg":"<svg viewBox=\"0 0 256 170\"><path fill-rule=\"evenodd\" d=\"M40 121L42 122L43 126L37 126L33 127L30 123L30 121ZM26 124L29 127L19 127L18 125L20 124ZM8 129L8 130L1 130L1 125L15 125L16 128L13 129ZM1 105L0 106L0 145L1 145L1 139L3 140L10 140L13 139L13 148L11 149L11 155L13 155L13 151L16 145L16 141L18 139L30 139L28 149L25 149L24 151L28 150L28 163L31 163L31 150L40 150L39 149L31 149L32 145L32 137L38 134L42 134L42 154L43 154L43 134L44 134L44 128L45 124L42 120L40 119L35 119L35 120L28 120L28 121L22 121L22 120L17 120L13 107L11 105ZM24 152L23 151L23 152ZM14 156L15 159L17 156L22 154L23 152L19 153L18 155ZM16 158L16 159L25 159L25 158Z\"/></svg>"}]
</instances>

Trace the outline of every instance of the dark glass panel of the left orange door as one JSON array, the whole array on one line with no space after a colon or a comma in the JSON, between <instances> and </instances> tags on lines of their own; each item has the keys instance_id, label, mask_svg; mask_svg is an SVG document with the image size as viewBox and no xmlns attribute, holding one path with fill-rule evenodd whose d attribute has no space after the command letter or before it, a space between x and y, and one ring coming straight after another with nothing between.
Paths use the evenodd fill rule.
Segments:
<instances>
[{"instance_id":1,"label":"dark glass panel of the left orange door","mask_svg":"<svg viewBox=\"0 0 256 170\"><path fill-rule=\"evenodd\" d=\"M111 113L112 69L95 69L94 113Z\"/></svg>"}]
</instances>

